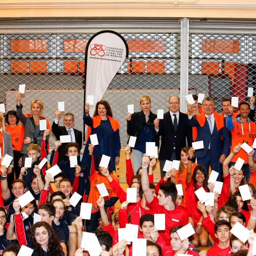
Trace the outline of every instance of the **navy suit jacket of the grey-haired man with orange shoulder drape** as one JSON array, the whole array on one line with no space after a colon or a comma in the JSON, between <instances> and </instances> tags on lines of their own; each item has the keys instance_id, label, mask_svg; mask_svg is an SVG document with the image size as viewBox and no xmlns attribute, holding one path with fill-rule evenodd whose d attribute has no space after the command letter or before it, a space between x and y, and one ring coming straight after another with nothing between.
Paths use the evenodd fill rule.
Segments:
<instances>
[{"instance_id":1,"label":"navy suit jacket of the grey-haired man with orange shoulder drape","mask_svg":"<svg viewBox=\"0 0 256 256\"><path fill-rule=\"evenodd\" d=\"M188 119L188 123L197 128L197 137L196 141L203 140L203 150L195 152L195 156L203 157L206 155L209 144L211 142L211 156L213 158L219 159L221 154L228 155L230 151L230 136L228 129L226 128L226 118L223 118L224 127L217 131L216 122L214 123L213 132L211 134L210 127L207 119L203 127L200 126L196 120L196 115L191 119Z\"/></svg>"}]
</instances>

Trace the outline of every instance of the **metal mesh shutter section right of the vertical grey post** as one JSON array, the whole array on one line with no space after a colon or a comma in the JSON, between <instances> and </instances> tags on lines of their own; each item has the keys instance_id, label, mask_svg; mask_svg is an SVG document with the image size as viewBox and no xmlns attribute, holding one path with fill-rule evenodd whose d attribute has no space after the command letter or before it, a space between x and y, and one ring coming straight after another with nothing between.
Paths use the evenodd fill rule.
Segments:
<instances>
[{"instance_id":1,"label":"metal mesh shutter section right of the vertical grey post","mask_svg":"<svg viewBox=\"0 0 256 256\"><path fill-rule=\"evenodd\" d=\"M218 113L224 98L248 102L248 87L256 84L255 72L256 35L189 34L189 91L214 98Z\"/></svg>"}]
</instances>

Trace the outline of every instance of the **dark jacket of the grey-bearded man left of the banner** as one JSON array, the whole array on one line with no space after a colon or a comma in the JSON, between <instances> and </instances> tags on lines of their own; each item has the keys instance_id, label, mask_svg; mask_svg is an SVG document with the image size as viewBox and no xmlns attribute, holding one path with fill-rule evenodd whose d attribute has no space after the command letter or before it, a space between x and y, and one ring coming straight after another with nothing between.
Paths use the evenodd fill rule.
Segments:
<instances>
[{"instance_id":1,"label":"dark jacket of the grey-bearded man left of the banner","mask_svg":"<svg viewBox=\"0 0 256 256\"><path fill-rule=\"evenodd\" d=\"M53 121L53 125L52 125L52 132L57 140L60 140L60 136L68 135L67 129L64 126L59 126L58 124L55 124L54 121ZM79 144L79 147L81 149L82 148L82 132L74 129L74 133L75 133L75 142ZM58 151L59 151L58 162L60 162L61 160L64 160L64 158L65 158L66 145L67 145L67 143L62 143L61 146L58 148Z\"/></svg>"}]
</instances>

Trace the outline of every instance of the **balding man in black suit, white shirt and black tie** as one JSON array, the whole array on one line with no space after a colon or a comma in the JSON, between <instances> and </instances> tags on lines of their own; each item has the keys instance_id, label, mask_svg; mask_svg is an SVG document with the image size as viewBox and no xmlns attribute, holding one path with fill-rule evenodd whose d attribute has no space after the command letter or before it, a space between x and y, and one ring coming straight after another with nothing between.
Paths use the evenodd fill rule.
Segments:
<instances>
[{"instance_id":1,"label":"balding man in black suit, white shirt and black tie","mask_svg":"<svg viewBox=\"0 0 256 256\"><path fill-rule=\"evenodd\" d=\"M180 99L177 96L169 98L169 111L164 118L154 120L154 128L158 136L162 136L158 159L160 160L161 177L165 176L163 168L166 160L180 160L181 149L192 146L192 128L188 125L188 116L179 111Z\"/></svg>"}]
</instances>

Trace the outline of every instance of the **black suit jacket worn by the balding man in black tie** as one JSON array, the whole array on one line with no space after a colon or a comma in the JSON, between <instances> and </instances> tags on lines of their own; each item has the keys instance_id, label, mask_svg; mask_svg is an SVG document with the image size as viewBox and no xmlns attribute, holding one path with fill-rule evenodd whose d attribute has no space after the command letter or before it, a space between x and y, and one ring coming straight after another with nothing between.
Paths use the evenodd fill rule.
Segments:
<instances>
[{"instance_id":1,"label":"black suit jacket worn by the balding man in black tie","mask_svg":"<svg viewBox=\"0 0 256 256\"><path fill-rule=\"evenodd\" d=\"M188 116L179 112L179 121L177 131L173 127L173 121L170 112L164 113L164 118L159 122L158 136L162 136L159 160L170 160L175 147L176 159L181 159L181 149L186 147L186 139L188 147L192 147L192 128L188 125Z\"/></svg>"}]
</instances>

